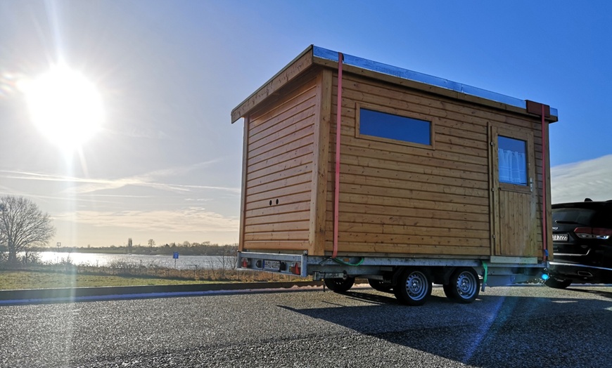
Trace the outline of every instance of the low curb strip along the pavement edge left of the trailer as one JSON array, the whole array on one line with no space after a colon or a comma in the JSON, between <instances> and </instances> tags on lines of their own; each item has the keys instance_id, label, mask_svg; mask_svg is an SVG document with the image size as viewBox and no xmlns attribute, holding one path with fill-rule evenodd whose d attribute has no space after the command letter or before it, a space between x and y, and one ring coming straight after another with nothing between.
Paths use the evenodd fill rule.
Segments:
<instances>
[{"instance_id":1,"label":"low curb strip along the pavement edge left of the trailer","mask_svg":"<svg viewBox=\"0 0 612 368\"><path fill-rule=\"evenodd\" d=\"M58 289L0 290L0 301L56 300L146 294L186 294L204 291L236 291L250 289L289 289L292 287L321 286L321 281L300 282L227 282L215 284L149 285L137 287L75 287Z\"/></svg>"}]
</instances>

